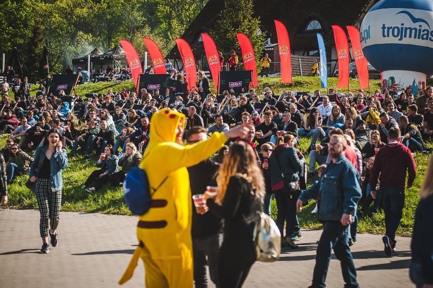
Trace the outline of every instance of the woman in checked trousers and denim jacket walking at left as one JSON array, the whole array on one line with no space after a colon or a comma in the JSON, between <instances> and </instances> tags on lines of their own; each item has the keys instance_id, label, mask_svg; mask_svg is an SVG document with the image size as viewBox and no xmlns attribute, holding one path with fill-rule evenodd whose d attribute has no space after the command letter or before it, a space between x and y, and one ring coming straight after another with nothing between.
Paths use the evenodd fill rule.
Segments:
<instances>
[{"instance_id":1,"label":"woman in checked trousers and denim jacket walking at left","mask_svg":"<svg viewBox=\"0 0 433 288\"><path fill-rule=\"evenodd\" d=\"M61 204L61 171L68 167L68 156L57 129L48 131L44 144L35 151L35 161L30 167L30 181L35 182L36 199L41 214L39 230L42 237L42 253L48 253L48 234L51 245L57 246L58 214ZM50 229L48 231L48 219Z\"/></svg>"}]
</instances>

